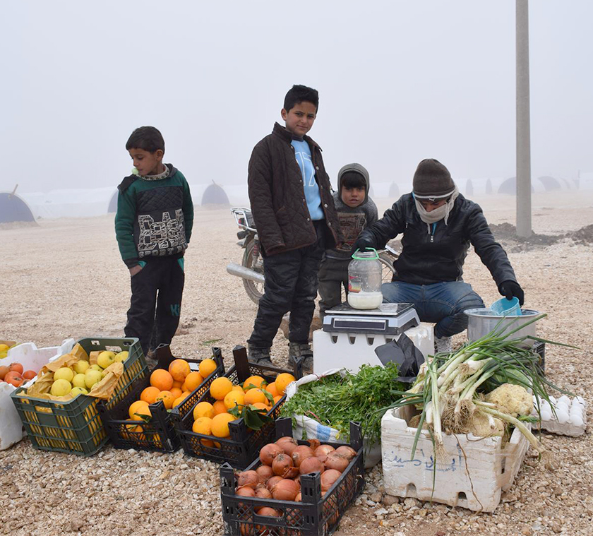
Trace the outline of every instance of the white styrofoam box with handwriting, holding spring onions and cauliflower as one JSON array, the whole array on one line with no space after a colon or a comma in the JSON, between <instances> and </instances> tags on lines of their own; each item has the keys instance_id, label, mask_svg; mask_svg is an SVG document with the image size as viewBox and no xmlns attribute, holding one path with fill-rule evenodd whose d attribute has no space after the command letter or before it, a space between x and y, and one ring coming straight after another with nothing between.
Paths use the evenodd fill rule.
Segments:
<instances>
[{"instance_id":1,"label":"white styrofoam box with handwriting, holding spring onions and cauliflower","mask_svg":"<svg viewBox=\"0 0 593 536\"><path fill-rule=\"evenodd\" d=\"M501 437L479 438L473 434L443 433L447 456L437 460L433 486L433 443L429 431L421 431L414 459L410 460L415 428L407 425L412 410L388 410L381 420L381 451L385 492L492 512L501 492L513 484L529 443L517 429L501 446Z\"/></svg>"}]
</instances>

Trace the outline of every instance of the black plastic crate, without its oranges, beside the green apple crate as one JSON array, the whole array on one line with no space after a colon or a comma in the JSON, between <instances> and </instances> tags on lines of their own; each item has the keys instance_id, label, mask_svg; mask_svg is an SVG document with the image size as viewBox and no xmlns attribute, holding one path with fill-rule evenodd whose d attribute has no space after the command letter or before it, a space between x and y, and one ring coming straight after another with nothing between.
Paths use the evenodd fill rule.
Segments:
<instances>
[{"instance_id":1,"label":"black plastic crate, without its oranges, beside the green apple crate","mask_svg":"<svg viewBox=\"0 0 593 536\"><path fill-rule=\"evenodd\" d=\"M160 345L155 352L155 356L157 366L150 371L150 374L156 369L169 369L169 364L176 359L172 355L169 345ZM220 348L212 347L212 359L215 360L217 368L200 383L200 386L188 396L188 399L193 395L198 395L198 397L203 395L210 389L212 381L218 376L224 376L224 363L222 362ZM191 371L197 371L202 361L201 359L185 360L188 362ZM98 405L107 435L115 448L174 452L180 446L179 436L175 433L171 413L165 409L161 401L150 405L150 414L152 415L150 422L134 422L132 425L128 419L128 408L131 403L139 400L142 391L150 386L150 374L134 384L132 391L115 407L109 409L101 402ZM192 408L193 405L187 403L187 400L179 405L181 415L185 415L188 411L191 412Z\"/></svg>"}]
</instances>

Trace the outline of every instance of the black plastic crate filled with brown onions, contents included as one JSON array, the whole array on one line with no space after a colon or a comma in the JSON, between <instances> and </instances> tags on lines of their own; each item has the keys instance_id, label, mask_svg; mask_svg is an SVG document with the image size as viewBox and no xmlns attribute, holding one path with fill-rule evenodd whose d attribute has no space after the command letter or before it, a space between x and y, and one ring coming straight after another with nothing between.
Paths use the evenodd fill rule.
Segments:
<instances>
[{"instance_id":1,"label":"black plastic crate filled with brown onions, contents included","mask_svg":"<svg viewBox=\"0 0 593 536\"><path fill-rule=\"evenodd\" d=\"M260 450L246 470L220 467L224 534L325 536L364 488L360 424L350 423L350 443L292 439L292 419L276 421L275 443Z\"/></svg>"}]
</instances>

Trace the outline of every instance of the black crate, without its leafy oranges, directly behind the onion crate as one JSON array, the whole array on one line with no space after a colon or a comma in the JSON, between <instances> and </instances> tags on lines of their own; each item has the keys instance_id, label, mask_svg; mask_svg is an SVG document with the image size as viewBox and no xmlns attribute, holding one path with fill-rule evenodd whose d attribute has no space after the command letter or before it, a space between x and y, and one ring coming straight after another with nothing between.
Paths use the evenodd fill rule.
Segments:
<instances>
[{"instance_id":1,"label":"black crate, without its leafy oranges, directly behind the onion crate","mask_svg":"<svg viewBox=\"0 0 593 536\"><path fill-rule=\"evenodd\" d=\"M247 352L244 346L234 347L233 357L234 366L224 374L233 383L241 383L253 375L262 376L269 382L274 381L276 376L283 372L289 372L297 379L302 376L301 362L296 365L296 371L252 363L247 360ZM280 409L285 401L286 395L282 396L268 412L267 415L272 417L274 421L280 417ZM207 391L201 396L193 393L186 400L186 403L191 403L191 407L199 402L210 402L212 404L215 399L210 396L210 391ZM215 436L196 434L192 430L193 412L184 412L183 407L174 408L171 415L173 416L175 431L187 455L204 458L216 463L229 463L232 467L240 469L244 469L253 462L258 457L260 448L265 443L270 443L274 437L273 421L264 424L259 430L252 430L246 427L244 419L236 419L229 422L230 437L222 439ZM212 446L213 441L215 444Z\"/></svg>"}]
</instances>

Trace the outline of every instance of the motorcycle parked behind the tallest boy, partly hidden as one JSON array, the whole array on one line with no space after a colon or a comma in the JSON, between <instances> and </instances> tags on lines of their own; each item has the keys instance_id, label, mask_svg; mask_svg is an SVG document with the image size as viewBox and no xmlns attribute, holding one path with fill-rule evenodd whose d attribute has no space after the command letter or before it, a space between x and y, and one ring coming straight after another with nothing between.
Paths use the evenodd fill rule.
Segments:
<instances>
[{"instance_id":1,"label":"motorcycle parked behind the tallest boy, partly hidden","mask_svg":"<svg viewBox=\"0 0 593 536\"><path fill-rule=\"evenodd\" d=\"M253 215L249 208L234 207L231 208L236 225L239 227L236 237L239 239L237 245L244 249L241 266L236 263L227 265L227 272L243 279L243 286L248 297L258 303L263 296L264 277L263 277L263 257L260 254L260 244L258 232L253 222ZM395 246L386 244L385 249L378 251L379 262L383 268L383 282L390 282L395 273L393 262L400 256ZM343 291L342 291L343 292ZM345 298L344 298L345 301Z\"/></svg>"}]
</instances>

